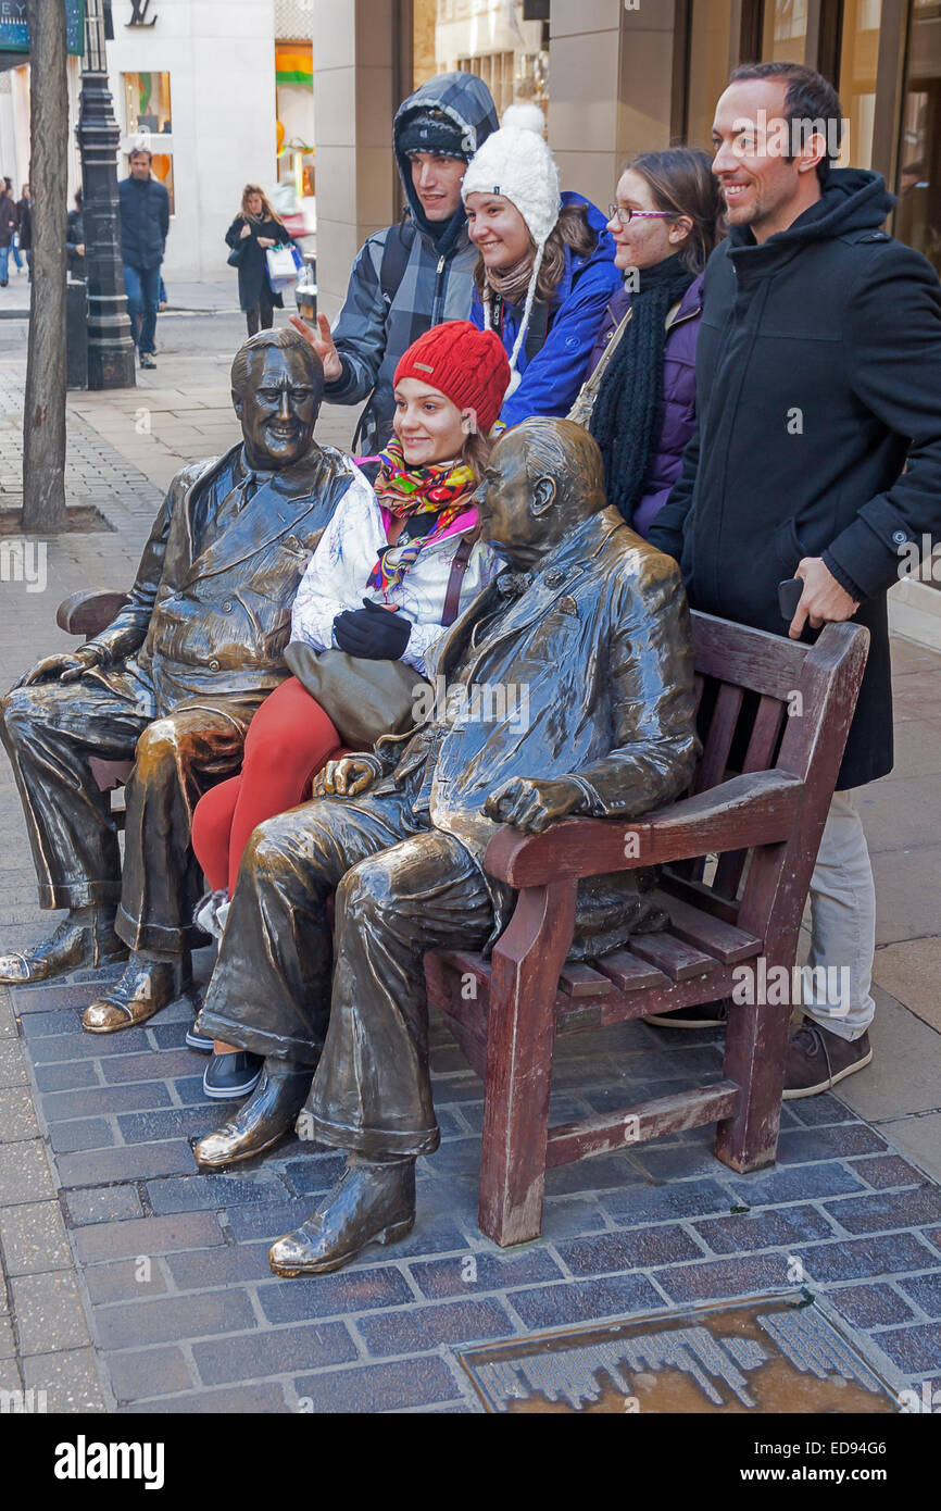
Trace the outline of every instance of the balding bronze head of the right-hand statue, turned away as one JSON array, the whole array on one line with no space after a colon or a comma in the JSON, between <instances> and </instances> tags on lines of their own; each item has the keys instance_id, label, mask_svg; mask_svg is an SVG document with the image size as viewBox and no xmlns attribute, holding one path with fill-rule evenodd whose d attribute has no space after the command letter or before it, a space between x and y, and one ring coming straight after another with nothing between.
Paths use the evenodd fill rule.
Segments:
<instances>
[{"instance_id":1,"label":"balding bronze head of the right-hand statue, turned away","mask_svg":"<svg viewBox=\"0 0 941 1511\"><path fill-rule=\"evenodd\" d=\"M571 420L523 420L494 446L474 503L483 538L514 567L532 567L604 508L598 444Z\"/></svg>"}]
</instances>

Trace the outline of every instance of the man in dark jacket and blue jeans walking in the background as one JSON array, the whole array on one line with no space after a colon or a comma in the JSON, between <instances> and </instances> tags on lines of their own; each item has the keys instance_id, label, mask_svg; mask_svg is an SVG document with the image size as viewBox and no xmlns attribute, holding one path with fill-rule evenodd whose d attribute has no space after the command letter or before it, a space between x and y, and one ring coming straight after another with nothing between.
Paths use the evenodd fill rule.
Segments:
<instances>
[{"instance_id":1,"label":"man in dark jacket and blue jeans walking in the background","mask_svg":"<svg viewBox=\"0 0 941 1511\"><path fill-rule=\"evenodd\" d=\"M142 367L156 367L154 335L160 301L160 263L169 231L169 195L151 174L151 153L128 156L130 178L118 184L124 292Z\"/></svg>"}]
</instances>

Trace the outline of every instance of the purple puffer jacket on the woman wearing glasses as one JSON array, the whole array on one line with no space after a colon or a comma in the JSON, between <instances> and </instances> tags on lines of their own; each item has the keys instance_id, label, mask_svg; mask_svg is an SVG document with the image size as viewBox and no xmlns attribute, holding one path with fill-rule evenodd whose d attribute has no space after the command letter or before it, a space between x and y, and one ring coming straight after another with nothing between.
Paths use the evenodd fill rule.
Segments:
<instances>
[{"instance_id":1,"label":"purple puffer jacket on the woman wearing glasses","mask_svg":"<svg viewBox=\"0 0 941 1511\"><path fill-rule=\"evenodd\" d=\"M625 289L619 289L612 298L589 357L586 378L598 366L601 352L627 314L630 302L631 295ZM643 497L630 521L637 535L645 538L680 474L683 452L696 428L696 337L699 335L701 314L702 273L683 295L683 304L674 316L663 348L663 403L657 435L651 447Z\"/></svg>"}]
</instances>

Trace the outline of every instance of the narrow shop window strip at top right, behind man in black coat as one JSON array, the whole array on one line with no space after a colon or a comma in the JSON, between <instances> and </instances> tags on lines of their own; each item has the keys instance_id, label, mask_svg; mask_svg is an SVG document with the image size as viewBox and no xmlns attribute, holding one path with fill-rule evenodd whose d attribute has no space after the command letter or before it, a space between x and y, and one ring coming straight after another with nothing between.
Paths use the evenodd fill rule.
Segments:
<instances>
[{"instance_id":1,"label":"narrow shop window strip at top right, behind man in black coat","mask_svg":"<svg viewBox=\"0 0 941 1511\"><path fill-rule=\"evenodd\" d=\"M896 236L941 273L941 0L912 6L896 193Z\"/></svg>"}]
</instances>

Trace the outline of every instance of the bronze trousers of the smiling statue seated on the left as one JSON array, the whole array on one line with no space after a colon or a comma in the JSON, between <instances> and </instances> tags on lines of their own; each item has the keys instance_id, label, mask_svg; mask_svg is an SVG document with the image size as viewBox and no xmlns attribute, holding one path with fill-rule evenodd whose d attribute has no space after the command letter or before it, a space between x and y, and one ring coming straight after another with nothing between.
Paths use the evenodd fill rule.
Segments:
<instances>
[{"instance_id":1,"label":"bronze trousers of the smiling statue seated on the left","mask_svg":"<svg viewBox=\"0 0 941 1511\"><path fill-rule=\"evenodd\" d=\"M17 688L0 703L42 908L118 904L131 949L195 943L204 890L192 854L192 810L233 775L261 695L187 700L156 718L150 680L130 662L77 683ZM133 760L125 787L124 869L110 798L89 757Z\"/></svg>"}]
</instances>

